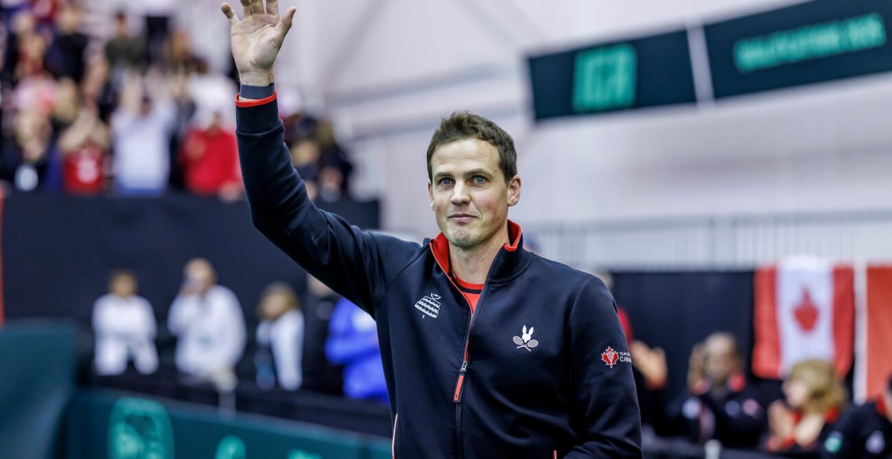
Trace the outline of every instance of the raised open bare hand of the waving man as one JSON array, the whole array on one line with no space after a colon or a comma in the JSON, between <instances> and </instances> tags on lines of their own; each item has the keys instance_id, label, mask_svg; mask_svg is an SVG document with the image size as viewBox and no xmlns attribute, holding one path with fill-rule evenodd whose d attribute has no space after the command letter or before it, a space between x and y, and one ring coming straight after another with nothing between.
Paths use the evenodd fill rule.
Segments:
<instances>
[{"instance_id":1,"label":"raised open bare hand of the waving man","mask_svg":"<svg viewBox=\"0 0 892 459\"><path fill-rule=\"evenodd\" d=\"M232 56L239 79L244 85L267 86L272 83L273 62L285 34L291 29L296 8L291 7L281 17L278 0L241 0L244 6L244 19L238 20L229 4L220 5L232 25Z\"/></svg>"}]
</instances>

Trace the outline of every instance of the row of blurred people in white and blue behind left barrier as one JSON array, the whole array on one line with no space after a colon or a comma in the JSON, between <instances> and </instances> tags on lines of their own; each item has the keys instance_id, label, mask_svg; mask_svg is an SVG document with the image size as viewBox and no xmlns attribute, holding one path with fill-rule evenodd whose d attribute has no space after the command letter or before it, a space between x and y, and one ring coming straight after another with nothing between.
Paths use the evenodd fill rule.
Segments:
<instances>
[{"instance_id":1,"label":"row of blurred people in white and blue behind left barrier","mask_svg":"<svg viewBox=\"0 0 892 459\"><path fill-rule=\"evenodd\" d=\"M132 272L115 271L108 293L95 302L93 367L100 376L165 378L171 372L164 371L159 354L173 350L174 377L186 385L232 392L249 384L264 391L310 389L388 400L375 321L315 279L306 301L287 283L270 283L256 318L245 317L235 293L217 282L211 262L194 258L161 324L137 287Z\"/></svg>"}]
</instances>

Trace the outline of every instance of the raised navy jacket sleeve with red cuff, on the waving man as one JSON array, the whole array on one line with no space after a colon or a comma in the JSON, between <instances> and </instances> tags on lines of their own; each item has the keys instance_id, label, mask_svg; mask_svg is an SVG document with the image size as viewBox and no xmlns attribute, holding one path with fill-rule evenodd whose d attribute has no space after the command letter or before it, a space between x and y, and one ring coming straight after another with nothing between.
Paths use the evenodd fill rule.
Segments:
<instances>
[{"instance_id":1,"label":"raised navy jacket sleeve with red cuff, on the waving man","mask_svg":"<svg viewBox=\"0 0 892 459\"><path fill-rule=\"evenodd\" d=\"M375 316L418 245L362 232L310 201L294 170L275 95L236 102L239 161L254 226L310 275Z\"/></svg>"}]
</instances>

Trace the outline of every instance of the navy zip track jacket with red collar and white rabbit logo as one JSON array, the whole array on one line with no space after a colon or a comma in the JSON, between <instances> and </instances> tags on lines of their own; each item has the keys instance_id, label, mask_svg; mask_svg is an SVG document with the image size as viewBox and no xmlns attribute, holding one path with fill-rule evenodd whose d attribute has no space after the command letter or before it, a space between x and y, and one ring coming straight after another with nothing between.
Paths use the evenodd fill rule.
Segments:
<instances>
[{"instance_id":1,"label":"navy zip track jacket with red collar and white rabbit logo","mask_svg":"<svg viewBox=\"0 0 892 459\"><path fill-rule=\"evenodd\" d=\"M397 459L641 457L631 357L603 283L524 250L509 223L472 317L442 234L419 246L317 209L275 94L236 105L254 225L375 317Z\"/></svg>"}]
</instances>

